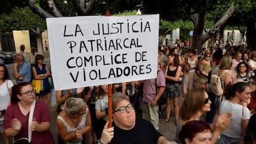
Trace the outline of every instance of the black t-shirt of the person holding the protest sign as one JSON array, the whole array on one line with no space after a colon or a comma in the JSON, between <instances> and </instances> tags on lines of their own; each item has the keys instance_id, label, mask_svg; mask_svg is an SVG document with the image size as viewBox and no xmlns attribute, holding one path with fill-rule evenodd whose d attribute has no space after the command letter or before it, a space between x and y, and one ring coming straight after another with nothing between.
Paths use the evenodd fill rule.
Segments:
<instances>
[{"instance_id":1,"label":"black t-shirt of the person holding the protest sign","mask_svg":"<svg viewBox=\"0 0 256 144\"><path fill-rule=\"evenodd\" d=\"M145 119L136 119L134 128L130 130L119 129L115 124L113 126L114 137L111 144L157 144L158 138L163 136Z\"/></svg>"}]
</instances>

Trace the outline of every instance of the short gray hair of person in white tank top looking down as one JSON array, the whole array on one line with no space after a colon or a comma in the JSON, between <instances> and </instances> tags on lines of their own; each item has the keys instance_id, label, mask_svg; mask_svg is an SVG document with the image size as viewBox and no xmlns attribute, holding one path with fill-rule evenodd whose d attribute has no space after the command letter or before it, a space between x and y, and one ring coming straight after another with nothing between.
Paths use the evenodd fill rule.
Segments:
<instances>
[{"instance_id":1,"label":"short gray hair of person in white tank top looking down","mask_svg":"<svg viewBox=\"0 0 256 144\"><path fill-rule=\"evenodd\" d=\"M79 114L84 103L82 98L68 98L64 104L64 111L68 115Z\"/></svg>"}]
</instances>

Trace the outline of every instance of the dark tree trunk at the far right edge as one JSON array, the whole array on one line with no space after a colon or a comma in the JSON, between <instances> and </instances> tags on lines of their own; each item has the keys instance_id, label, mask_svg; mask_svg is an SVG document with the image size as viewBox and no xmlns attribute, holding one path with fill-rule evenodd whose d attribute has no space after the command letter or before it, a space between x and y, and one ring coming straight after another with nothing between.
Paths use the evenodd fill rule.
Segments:
<instances>
[{"instance_id":1,"label":"dark tree trunk at the far right edge","mask_svg":"<svg viewBox=\"0 0 256 144\"><path fill-rule=\"evenodd\" d=\"M246 38L247 38L247 46L252 51L256 51L256 28L255 28L255 22L250 21L247 25L247 32L246 32Z\"/></svg>"}]
</instances>

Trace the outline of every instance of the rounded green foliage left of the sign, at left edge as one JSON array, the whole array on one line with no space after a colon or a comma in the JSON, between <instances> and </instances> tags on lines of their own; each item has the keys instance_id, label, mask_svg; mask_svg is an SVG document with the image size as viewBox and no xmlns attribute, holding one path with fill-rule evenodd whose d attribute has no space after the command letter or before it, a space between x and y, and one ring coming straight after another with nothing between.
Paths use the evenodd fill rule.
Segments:
<instances>
[{"instance_id":1,"label":"rounded green foliage left of the sign, at left edge","mask_svg":"<svg viewBox=\"0 0 256 144\"><path fill-rule=\"evenodd\" d=\"M28 7L14 7L10 12L0 15L0 31L46 29L45 20L34 14Z\"/></svg>"}]
</instances>

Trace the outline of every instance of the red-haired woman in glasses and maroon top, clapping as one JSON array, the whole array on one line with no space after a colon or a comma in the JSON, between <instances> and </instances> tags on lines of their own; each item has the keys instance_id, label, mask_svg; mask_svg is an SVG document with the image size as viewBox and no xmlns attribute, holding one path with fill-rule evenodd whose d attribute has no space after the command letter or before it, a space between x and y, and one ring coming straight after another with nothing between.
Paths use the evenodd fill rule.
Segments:
<instances>
[{"instance_id":1,"label":"red-haired woman in glasses and maroon top, clapping","mask_svg":"<svg viewBox=\"0 0 256 144\"><path fill-rule=\"evenodd\" d=\"M19 83L12 87L11 105L4 117L5 133L14 137L28 138L28 129L32 131L33 144L54 144L53 135L49 131L49 108L41 101L35 101L35 90L29 82ZM28 117L32 103L35 103L31 127L28 128Z\"/></svg>"}]
</instances>

